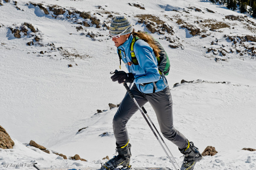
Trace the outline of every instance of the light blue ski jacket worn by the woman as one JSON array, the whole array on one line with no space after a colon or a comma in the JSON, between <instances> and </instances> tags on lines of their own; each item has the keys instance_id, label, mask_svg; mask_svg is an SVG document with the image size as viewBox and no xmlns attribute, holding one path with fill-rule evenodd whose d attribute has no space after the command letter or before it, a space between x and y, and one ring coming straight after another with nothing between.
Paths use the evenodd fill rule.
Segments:
<instances>
[{"instance_id":1,"label":"light blue ski jacket worn by the woman","mask_svg":"<svg viewBox=\"0 0 256 170\"><path fill-rule=\"evenodd\" d=\"M131 62L130 51L132 39L133 35L130 35L128 40L126 40L121 46L117 48L117 53L119 49L121 50L122 61L124 63ZM151 46L149 46L145 41L139 39L134 43L134 53L139 64L126 64L125 66L128 69L128 72L133 73L135 78L134 83L137 85L137 88L140 90L140 92L154 92L153 82L155 82L157 86L157 88L155 88L155 92L159 92L165 89L168 86L167 80L161 76L158 71L157 58L155 57Z\"/></svg>"}]
</instances>

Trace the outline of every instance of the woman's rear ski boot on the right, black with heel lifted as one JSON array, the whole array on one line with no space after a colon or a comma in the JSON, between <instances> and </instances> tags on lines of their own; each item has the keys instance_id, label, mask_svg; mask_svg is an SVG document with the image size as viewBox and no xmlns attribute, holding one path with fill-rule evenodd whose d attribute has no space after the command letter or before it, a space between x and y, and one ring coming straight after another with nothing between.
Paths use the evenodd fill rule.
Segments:
<instances>
[{"instance_id":1,"label":"woman's rear ski boot on the right, black with heel lifted","mask_svg":"<svg viewBox=\"0 0 256 170\"><path fill-rule=\"evenodd\" d=\"M195 163L202 159L201 153L198 151L198 148L194 146L193 142L188 141L188 147L180 150L180 152L184 154L184 160L180 170L193 170Z\"/></svg>"}]
</instances>

